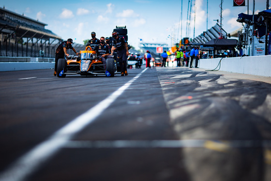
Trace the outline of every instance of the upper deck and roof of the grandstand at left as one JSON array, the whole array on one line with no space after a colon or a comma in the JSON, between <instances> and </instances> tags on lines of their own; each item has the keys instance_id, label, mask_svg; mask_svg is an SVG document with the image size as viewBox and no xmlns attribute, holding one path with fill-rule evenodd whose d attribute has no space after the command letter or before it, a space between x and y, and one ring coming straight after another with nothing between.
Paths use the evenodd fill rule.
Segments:
<instances>
[{"instance_id":1,"label":"upper deck and roof of the grandstand at left","mask_svg":"<svg viewBox=\"0 0 271 181\"><path fill-rule=\"evenodd\" d=\"M46 25L24 15L0 8L0 33L7 35L7 37L15 36L17 41L22 38L36 38L45 41L52 38L53 41L61 41L60 36L45 29Z\"/></svg>"}]
</instances>

